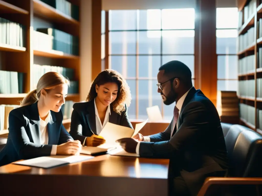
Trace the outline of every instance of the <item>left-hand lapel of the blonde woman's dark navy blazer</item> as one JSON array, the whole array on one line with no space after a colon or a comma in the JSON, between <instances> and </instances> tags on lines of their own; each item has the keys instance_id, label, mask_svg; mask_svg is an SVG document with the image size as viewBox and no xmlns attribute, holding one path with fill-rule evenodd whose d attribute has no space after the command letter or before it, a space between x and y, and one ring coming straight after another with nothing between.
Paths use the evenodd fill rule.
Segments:
<instances>
[{"instance_id":1,"label":"left-hand lapel of the blonde woman's dark navy blazer","mask_svg":"<svg viewBox=\"0 0 262 196\"><path fill-rule=\"evenodd\" d=\"M30 107L30 123L31 123L31 135L35 144L40 144L40 117L37 108L37 102L33 103Z\"/></svg>"}]
</instances>

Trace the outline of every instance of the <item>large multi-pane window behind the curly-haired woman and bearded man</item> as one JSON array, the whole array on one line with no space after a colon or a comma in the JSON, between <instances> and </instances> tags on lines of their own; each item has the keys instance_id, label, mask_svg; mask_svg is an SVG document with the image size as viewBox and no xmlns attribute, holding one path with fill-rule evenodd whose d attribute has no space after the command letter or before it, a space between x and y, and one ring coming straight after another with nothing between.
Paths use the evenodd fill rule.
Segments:
<instances>
[{"instance_id":1,"label":"large multi-pane window behind the curly-haired woman and bearded man","mask_svg":"<svg viewBox=\"0 0 262 196\"><path fill-rule=\"evenodd\" d=\"M164 119L173 118L174 103L165 106L157 92L157 73L166 62L179 60L194 77L194 29L193 8L109 11L109 67L130 87L130 119L148 118L146 108L155 105Z\"/></svg>"}]
</instances>

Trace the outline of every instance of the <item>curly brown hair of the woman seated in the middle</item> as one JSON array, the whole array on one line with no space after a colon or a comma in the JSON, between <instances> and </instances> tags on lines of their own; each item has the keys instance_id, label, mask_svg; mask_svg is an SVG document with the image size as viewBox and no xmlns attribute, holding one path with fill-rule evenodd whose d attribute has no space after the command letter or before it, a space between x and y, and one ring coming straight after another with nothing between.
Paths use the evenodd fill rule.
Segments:
<instances>
[{"instance_id":1,"label":"curly brown hair of the woman seated in the middle","mask_svg":"<svg viewBox=\"0 0 262 196\"><path fill-rule=\"evenodd\" d=\"M106 69L96 76L86 96L86 101L92 101L97 96L96 84L100 86L108 82L114 82L118 85L117 97L112 104L114 112L121 114L125 110L125 104L130 106L131 93L126 80L115 70Z\"/></svg>"}]
</instances>

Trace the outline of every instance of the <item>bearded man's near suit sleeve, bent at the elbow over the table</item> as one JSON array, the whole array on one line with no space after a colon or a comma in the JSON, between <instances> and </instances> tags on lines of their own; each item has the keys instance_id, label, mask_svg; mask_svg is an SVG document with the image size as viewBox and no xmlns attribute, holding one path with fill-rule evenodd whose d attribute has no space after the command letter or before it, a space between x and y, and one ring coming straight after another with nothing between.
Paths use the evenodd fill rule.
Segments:
<instances>
[{"instance_id":1,"label":"bearded man's near suit sleeve, bent at the elbow over the table","mask_svg":"<svg viewBox=\"0 0 262 196\"><path fill-rule=\"evenodd\" d=\"M208 127L209 115L201 102L192 102L185 107L182 120L183 123L170 140L155 143L141 142L140 156L171 158L183 147L198 142Z\"/></svg>"}]
</instances>

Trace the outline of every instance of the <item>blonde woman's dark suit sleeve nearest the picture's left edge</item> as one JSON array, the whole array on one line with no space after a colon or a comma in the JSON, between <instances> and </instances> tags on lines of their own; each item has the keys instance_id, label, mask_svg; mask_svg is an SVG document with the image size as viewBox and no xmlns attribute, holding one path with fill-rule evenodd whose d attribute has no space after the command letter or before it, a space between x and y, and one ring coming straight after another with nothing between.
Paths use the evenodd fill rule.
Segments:
<instances>
[{"instance_id":1,"label":"blonde woman's dark suit sleeve nearest the picture's left edge","mask_svg":"<svg viewBox=\"0 0 262 196\"><path fill-rule=\"evenodd\" d=\"M20 159L50 156L52 145L40 145L30 142L25 131L26 121L13 112L9 113L9 136Z\"/></svg>"}]
</instances>

